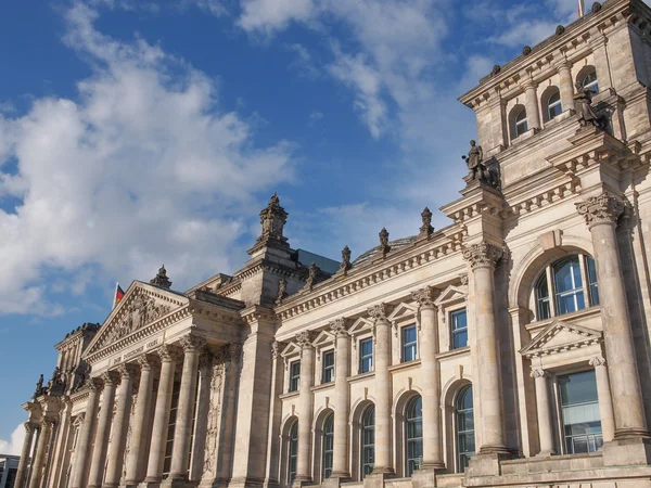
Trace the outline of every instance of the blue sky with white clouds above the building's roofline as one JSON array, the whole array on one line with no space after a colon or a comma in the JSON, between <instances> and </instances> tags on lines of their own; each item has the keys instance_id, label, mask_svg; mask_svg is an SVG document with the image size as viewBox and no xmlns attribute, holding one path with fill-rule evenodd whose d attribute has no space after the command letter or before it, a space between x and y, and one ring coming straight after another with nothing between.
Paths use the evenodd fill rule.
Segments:
<instances>
[{"instance_id":1,"label":"blue sky with white clouds above the building's roofline","mask_svg":"<svg viewBox=\"0 0 651 488\"><path fill-rule=\"evenodd\" d=\"M22 0L0 8L0 452L53 345L165 264L232 272L277 191L359 255L458 197L494 64L576 0ZM448 224L435 213L436 227ZM16 427L18 426L18 427Z\"/></svg>"}]
</instances>

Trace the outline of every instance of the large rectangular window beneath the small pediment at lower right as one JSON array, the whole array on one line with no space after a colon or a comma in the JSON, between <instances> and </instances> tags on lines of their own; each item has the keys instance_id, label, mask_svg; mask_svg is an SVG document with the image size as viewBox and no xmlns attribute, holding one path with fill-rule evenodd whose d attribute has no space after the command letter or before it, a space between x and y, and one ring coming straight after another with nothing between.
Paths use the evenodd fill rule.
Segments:
<instances>
[{"instance_id":1,"label":"large rectangular window beneath the small pediment at lower right","mask_svg":"<svg viewBox=\"0 0 651 488\"><path fill-rule=\"evenodd\" d=\"M565 452L596 452L603 445L595 371L558 377Z\"/></svg>"}]
</instances>

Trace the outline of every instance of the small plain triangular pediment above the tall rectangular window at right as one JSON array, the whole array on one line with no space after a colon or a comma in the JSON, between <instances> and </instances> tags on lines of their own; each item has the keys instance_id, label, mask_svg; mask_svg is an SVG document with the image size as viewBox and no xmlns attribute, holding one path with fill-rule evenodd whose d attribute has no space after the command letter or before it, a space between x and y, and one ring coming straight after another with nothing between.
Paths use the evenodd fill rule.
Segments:
<instances>
[{"instance_id":1,"label":"small plain triangular pediment above the tall rectangular window at right","mask_svg":"<svg viewBox=\"0 0 651 488\"><path fill-rule=\"evenodd\" d=\"M587 347L601 342L602 333L593 329L554 320L524 346L520 354L531 358Z\"/></svg>"}]
</instances>

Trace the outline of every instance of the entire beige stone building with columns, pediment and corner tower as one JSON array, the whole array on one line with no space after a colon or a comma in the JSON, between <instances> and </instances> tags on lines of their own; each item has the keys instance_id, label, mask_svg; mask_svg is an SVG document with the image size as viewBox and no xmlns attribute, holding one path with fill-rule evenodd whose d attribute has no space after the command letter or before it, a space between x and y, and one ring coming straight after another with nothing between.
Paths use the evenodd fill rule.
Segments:
<instances>
[{"instance_id":1,"label":"entire beige stone building with columns, pediment and corner tower","mask_svg":"<svg viewBox=\"0 0 651 488\"><path fill-rule=\"evenodd\" d=\"M444 229L329 274L275 195L233 275L133 282L56 345L16 487L651 487L650 36L595 3L464 94Z\"/></svg>"}]
</instances>

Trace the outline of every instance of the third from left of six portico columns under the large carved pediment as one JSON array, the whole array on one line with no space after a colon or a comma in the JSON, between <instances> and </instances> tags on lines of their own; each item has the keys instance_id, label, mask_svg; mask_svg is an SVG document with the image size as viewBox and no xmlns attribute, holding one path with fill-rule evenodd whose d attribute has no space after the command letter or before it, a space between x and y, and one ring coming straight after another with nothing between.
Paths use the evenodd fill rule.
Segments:
<instances>
[{"instance_id":1,"label":"third from left of six portico columns under the large carved pediment","mask_svg":"<svg viewBox=\"0 0 651 488\"><path fill-rule=\"evenodd\" d=\"M125 447L127 444L127 429L131 414L131 396L133 395L133 364L120 364L117 369L120 374L119 391L117 394L117 408L115 420L111 429L111 450L108 451L108 464L106 465L106 477L104 488L116 488L122 477L123 462L125 460Z\"/></svg>"}]
</instances>

